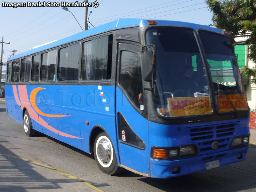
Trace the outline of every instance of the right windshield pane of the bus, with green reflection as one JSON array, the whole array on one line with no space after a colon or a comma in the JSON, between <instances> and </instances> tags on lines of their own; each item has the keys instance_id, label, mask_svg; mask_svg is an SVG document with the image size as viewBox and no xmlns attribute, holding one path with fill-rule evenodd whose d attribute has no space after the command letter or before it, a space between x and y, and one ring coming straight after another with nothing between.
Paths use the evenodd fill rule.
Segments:
<instances>
[{"instance_id":1,"label":"right windshield pane of the bus, with green reflection","mask_svg":"<svg viewBox=\"0 0 256 192\"><path fill-rule=\"evenodd\" d=\"M243 84L230 38L203 30L199 31L199 37L206 54L219 111L247 110Z\"/></svg>"}]
</instances>

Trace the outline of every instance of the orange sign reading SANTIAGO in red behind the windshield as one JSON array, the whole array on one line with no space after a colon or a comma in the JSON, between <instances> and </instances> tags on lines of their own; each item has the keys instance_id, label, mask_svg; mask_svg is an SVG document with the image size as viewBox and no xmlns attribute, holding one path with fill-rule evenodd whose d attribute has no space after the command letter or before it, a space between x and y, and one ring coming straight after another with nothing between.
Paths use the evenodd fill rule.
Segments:
<instances>
[{"instance_id":1,"label":"orange sign reading SANTIAGO in red behind the windshield","mask_svg":"<svg viewBox=\"0 0 256 192\"><path fill-rule=\"evenodd\" d=\"M170 116L188 116L211 113L210 97L167 98Z\"/></svg>"}]
</instances>

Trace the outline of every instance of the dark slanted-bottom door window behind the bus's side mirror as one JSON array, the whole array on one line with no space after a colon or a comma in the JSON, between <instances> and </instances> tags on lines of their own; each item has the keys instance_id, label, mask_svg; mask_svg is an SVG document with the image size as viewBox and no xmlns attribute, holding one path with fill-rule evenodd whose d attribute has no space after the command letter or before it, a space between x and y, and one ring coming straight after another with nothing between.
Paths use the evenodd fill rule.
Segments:
<instances>
[{"instance_id":1,"label":"dark slanted-bottom door window behind the bus's side mirror","mask_svg":"<svg viewBox=\"0 0 256 192\"><path fill-rule=\"evenodd\" d=\"M139 54L129 51L121 52L119 82L132 101L143 110L141 108L143 106L143 89Z\"/></svg>"}]
</instances>

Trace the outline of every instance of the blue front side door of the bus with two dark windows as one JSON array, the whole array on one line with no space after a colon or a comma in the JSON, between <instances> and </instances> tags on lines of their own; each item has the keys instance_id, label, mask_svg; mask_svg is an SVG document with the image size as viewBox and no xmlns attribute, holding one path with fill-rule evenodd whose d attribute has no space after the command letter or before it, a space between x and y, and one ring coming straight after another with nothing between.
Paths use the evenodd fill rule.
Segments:
<instances>
[{"instance_id":1,"label":"blue front side door of the bus with two dark windows","mask_svg":"<svg viewBox=\"0 0 256 192\"><path fill-rule=\"evenodd\" d=\"M148 174L147 119L143 114L140 46L118 44L117 142L121 166ZM124 167L123 166L123 167Z\"/></svg>"}]
</instances>

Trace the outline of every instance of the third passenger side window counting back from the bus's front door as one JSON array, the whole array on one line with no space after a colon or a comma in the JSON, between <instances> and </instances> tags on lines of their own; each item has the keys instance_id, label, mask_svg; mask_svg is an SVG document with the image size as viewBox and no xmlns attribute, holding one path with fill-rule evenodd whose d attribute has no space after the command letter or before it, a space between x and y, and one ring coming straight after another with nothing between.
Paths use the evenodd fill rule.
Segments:
<instances>
[{"instance_id":1,"label":"third passenger side window counting back from the bus's front door","mask_svg":"<svg viewBox=\"0 0 256 192\"><path fill-rule=\"evenodd\" d=\"M56 50L43 53L41 56L41 81L55 80Z\"/></svg>"}]
</instances>

